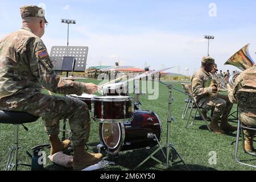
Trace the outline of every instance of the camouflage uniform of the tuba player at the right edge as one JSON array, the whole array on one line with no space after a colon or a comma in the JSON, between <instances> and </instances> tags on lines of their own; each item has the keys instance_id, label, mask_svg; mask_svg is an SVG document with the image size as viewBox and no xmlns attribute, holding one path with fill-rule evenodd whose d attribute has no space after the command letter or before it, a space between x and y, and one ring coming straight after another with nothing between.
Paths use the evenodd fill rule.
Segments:
<instances>
[{"instance_id":1,"label":"camouflage uniform of the tuba player at the right edge","mask_svg":"<svg viewBox=\"0 0 256 182\"><path fill-rule=\"evenodd\" d=\"M241 98L238 98L237 93L239 91L251 93L250 100L243 102ZM256 128L256 64L243 71L236 78L234 89L229 88L228 96L233 103L239 101L241 122L247 127ZM245 131L245 134L250 137L255 135L251 131Z\"/></svg>"}]
</instances>

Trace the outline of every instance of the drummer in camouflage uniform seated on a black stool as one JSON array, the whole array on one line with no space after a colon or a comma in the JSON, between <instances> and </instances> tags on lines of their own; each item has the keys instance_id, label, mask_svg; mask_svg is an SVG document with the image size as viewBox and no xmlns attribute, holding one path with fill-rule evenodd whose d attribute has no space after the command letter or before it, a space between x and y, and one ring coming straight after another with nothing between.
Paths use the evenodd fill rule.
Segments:
<instances>
[{"instance_id":1,"label":"drummer in camouflage uniform seated on a black stool","mask_svg":"<svg viewBox=\"0 0 256 182\"><path fill-rule=\"evenodd\" d=\"M43 86L60 94L93 93L92 83L63 80L56 75L49 55L40 39L44 35L44 9L38 6L20 8L22 28L0 40L0 109L24 111L42 117L51 142L51 155L64 151L70 140L61 142L59 119L68 119L72 131L73 169L79 170L102 159L102 154L85 152L90 131L88 106L68 97L41 93Z\"/></svg>"}]
</instances>

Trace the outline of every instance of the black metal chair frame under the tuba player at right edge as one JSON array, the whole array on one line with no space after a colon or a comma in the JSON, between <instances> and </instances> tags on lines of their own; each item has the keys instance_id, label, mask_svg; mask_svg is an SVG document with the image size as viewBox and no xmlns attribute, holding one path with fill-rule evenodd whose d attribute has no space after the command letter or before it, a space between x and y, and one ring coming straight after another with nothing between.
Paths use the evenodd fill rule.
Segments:
<instances>
[{"instance_id":1,"label":"black metal chair frame under the tuba player at right edge","mask_svg":"<svg viewBox=\"0 0 256 182\"><path fill-rule=\"evenodd\" d=\"M243 147L243 151L245 151L245 153L247 153L247 154L256 156L255 153L250 153L250 152L247 152L247 151L245 150L245 138L244 138L244 135L243 135L243 130L256 131L256 129L254 129L254 128L244 126L244 125L240 122L240 119L238 119L237 139L236 139L236 149L235 149L235 159L236 159L236 162L238 162L238 163L240 163L240 164L243 164L243 165L245 165L245 166L250 166L250 167L256 168L256 166L254 166L254 165L247 164L247 163L242 163L242 162L237 158L238 143L239 143L239 141L240 141L240 140L239 140L239 138L240 138L240 133L241 133L241 138L242 138L242 147Z\"/></svg>"}]
</instances>

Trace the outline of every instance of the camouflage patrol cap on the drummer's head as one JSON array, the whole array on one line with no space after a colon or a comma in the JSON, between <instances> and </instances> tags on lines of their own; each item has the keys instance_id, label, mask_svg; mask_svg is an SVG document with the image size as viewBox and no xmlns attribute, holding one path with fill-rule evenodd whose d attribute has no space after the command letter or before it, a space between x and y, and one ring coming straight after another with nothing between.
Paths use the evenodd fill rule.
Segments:
<instances>
[{"instance_id":1,"label":"camouflage patrol cap on the drummer's head","mask_svg":"<svg viewBox=\"0 0 256 182\"><path fill-rule=\"evenodd\" d=\"M26 5L20 7L20 15L22 18L25 17L39 17L39 18L44 18L44 20L47 22L45 15L46 11L42 7L38 7L35 5Z\"/></svg>"}]
</instances>

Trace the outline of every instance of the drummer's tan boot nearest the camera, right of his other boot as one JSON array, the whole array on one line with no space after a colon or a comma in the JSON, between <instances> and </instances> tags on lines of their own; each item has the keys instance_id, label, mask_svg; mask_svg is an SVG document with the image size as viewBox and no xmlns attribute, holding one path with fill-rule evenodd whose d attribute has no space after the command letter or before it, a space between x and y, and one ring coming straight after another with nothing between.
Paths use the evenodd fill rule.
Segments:
<instances>
[{"instance_id":1,"label":"drummer's tan boot nearest the camera, right of his other boot","mask_svg":"<svg viewBox=\"0 0 256 182\"><path fill-rule=\"evenodd\" d=\"M73 146L73 170L78 171L100 162L103 158L101 153L93 154L85 152L84 146Z\"/></svg>"}]
</instances>

